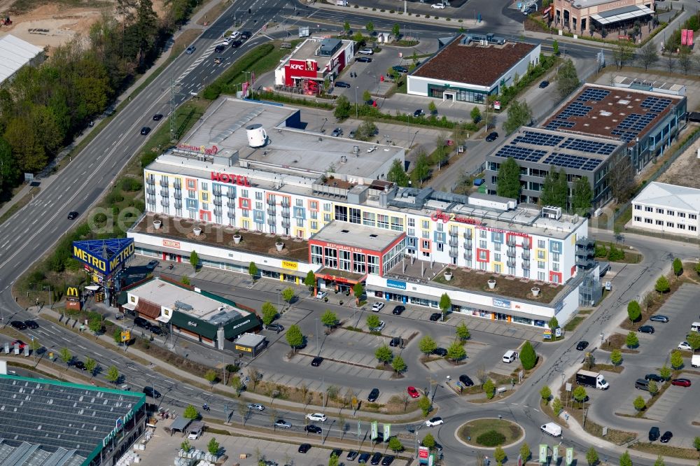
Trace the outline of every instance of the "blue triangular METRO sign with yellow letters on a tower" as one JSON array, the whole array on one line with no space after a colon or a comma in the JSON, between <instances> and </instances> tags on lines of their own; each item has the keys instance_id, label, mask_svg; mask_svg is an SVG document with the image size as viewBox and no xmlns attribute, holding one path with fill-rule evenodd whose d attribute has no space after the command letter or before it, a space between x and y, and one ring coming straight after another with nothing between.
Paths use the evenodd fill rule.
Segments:
<instances>
[{"instance_id":1,"label":"blue triangular METRO sign with yellow letters on a tower","mask_svg":"<svg viewBox=\"0 0 700 466\"><path fill-rule=\"evenodd\" d=\"M73 257L104 276L134 254L133 238L73 241Z\"/></svg>"}]
</instances>

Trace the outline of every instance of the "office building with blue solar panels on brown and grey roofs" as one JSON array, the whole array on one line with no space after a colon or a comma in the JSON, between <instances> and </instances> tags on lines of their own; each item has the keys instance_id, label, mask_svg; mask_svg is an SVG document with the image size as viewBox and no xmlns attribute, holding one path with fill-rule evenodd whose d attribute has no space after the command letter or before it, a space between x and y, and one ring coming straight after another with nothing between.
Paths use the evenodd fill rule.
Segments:
<instances>
[{"instance_id":1,"label":"office building with blue solar panels on brown and grey roofs","mask_svg":"<svg viewBox=\"0 0 700 466\"><path fill-rule=\"evenodd\" d=\"M630 174L642 170L685 127L684 90L622 77L616 78L615 86L584 85L541 127L522 127L486 156L489 192L496 193L500 163L512 157L521 167L520 202L539 201L545 177L554 167L566 172L570 192L577 179L586 176L594 209L605 205L612 197L607 175L620 160L629 157Z\"/></svg>"}]
</instances>

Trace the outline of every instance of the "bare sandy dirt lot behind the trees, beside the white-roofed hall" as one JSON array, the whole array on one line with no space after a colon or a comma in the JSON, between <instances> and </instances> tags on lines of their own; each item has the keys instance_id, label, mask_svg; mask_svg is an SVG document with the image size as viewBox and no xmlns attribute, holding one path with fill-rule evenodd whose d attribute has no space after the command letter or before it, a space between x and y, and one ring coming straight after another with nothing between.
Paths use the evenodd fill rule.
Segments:
<instances>
[{"instance_id":1,"label":"bare sandy dirt lot behind the trees, beside the white-roofed hall","mask_svg":"<svg viewBox=\"0 0 700 466\"><path fill-rule=\"evenodd\" d=\"M0 0L0 16L9 16L13 22L0 27L0 35L13 34L38 47L57 47L87 33L102 14L112 15L115 4L116 0ZM160 15L163 0L154 0L153 9Z\"/></svg>"}]
</instances>

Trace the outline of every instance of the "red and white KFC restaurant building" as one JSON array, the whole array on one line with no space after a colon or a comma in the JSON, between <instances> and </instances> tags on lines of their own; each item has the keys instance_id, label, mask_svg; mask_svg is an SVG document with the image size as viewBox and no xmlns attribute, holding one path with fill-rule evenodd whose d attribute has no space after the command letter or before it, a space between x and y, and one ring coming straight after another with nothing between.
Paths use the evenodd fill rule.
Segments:
<instances>
[{"instance_id":1,"label":"red and white KFC restaurant building","mask_svg":"<svg viewBox=\"0 0 700 466\"><path fill-rule=\"evenodd\" d=\"M316 94L323 82L335 80L355 55L355 43L338 38L309 38L301 43L274 71L274 83L300 87Z\"/></svg>"}]
</instances>

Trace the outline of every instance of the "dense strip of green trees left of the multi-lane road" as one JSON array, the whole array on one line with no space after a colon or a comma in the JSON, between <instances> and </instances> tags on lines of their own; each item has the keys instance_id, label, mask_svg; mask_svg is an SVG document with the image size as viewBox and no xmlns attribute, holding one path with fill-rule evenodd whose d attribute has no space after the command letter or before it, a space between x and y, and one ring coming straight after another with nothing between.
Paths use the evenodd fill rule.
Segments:
<instances>
[{"instance_id":1,"label":"dense strip of green trees left of the multi-lane road","mask_svg":"<svg viewBox=\"0 0 700 466\"><path fill-rule=\"evenodd\" d=\"M155 61L177 24L200 0L170 0L164 17L152 0L118 0L85 36L25 66L0 87L0 188L36 174Z\"/></svg>"}]
</instances>

